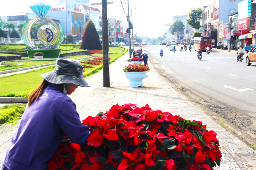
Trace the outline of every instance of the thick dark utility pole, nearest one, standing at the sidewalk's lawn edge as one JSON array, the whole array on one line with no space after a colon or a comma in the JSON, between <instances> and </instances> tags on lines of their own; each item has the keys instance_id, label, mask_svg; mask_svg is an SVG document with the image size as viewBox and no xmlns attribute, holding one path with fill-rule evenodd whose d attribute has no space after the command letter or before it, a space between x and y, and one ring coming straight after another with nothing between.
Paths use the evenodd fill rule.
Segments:
<instances>
[{"instance_id":1,"label":"thick dark utility pole, nearest one, standing at the sidewalk's lawn edge","mask_svg":"<svg viewBox=\"0 0 256 170\"><path fill-rule=\"evenodd\" d=\"M102 57L103 57L103 87L110 87L107 0L102 0Z\"/></svg>"}]
</instances>

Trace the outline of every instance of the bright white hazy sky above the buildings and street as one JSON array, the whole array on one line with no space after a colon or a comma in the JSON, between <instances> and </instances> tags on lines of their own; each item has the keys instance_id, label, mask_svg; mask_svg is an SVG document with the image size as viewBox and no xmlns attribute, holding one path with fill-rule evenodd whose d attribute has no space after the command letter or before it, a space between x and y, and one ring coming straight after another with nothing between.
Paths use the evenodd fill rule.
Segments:
<instances>
[{"instance_id":1,"label":"bright white hazy sky above the buildings and street","mask_svg":"<svg viewBox=\"0 0 256 170\"><path fill-rule=\"evenodd\" d=\"M108 5L108 17L123 21L124 25L128 25L126 21L127 0L108 0L114 2L113 5ZM28 2L28 1L27 1ZM30 12L29 6L36 2L45 2L55 7L56 0L33 0L30 3L24 3L20 0L1 1L0 16L23 15L20 12ZM101 2L101 0L90 0L91 3ZM121 6L123 3L124 10ZM129 0L129 9L132 10L132 19L134 33L138 35L157 38L164 34L166 27L164 24L172 23L173 15L188 15L191 8L212 5L213 0ZM99 8L101 6L93 6Z\"/></svg>"}]
</instances>

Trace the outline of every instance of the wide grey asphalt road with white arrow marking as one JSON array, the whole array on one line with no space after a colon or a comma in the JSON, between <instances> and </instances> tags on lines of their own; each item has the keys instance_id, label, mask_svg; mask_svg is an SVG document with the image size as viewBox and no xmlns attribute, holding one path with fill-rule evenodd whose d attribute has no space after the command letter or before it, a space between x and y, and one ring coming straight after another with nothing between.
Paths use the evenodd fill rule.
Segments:
<instances>
[{"instance_id":1,"label":"wide grey asphalt road with white arrow marking","mask_svg":"<svg viewBox=\"0 0 256 170\"><path fill-rule=\"evenodd\" d=\"M176 53L165 45L142 46L143 49L154 64L186 90L208 103L220 104L256 119L256 63L246 66L245 59L237 62L235 54L218 52L209 55L203 52L199 61L197 52L193 49L181 52L180 45Z\"/></svg>"}]
</instances>

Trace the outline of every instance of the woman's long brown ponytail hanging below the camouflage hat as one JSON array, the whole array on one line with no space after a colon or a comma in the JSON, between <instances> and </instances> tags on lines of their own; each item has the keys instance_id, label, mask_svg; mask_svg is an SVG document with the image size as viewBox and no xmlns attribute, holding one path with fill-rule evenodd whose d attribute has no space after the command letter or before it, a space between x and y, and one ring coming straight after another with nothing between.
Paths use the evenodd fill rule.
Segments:
<instances>
[{"instance_id":1,"label":"woman's long brown ponytail hanging below the camouflage hat","mask_svg":"<svg viewBox=\"0 0 256 170\"><path fill-rule=\"evenodd\" d=\"M29 94L28 106L30 106L34 101L36 101L40 97L40 95L43 93L44 89L49 84L50 83L48 81L43 80L42 83Z\"/></svg>"}]
</instances>

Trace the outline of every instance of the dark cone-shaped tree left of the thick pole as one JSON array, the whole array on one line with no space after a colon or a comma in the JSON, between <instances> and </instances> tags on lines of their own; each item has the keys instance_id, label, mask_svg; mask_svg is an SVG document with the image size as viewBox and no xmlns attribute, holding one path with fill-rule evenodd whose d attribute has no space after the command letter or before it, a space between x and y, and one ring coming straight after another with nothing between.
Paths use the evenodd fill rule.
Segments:
<instances>
[{"instance_id":1,"label":"dark cone-shaped tree left of the thick pole","mask_svg":"<svg viewBox=\"0 0 256 170\"><path fill-rule=\"evenodd\" d=\"M86 23L82 40L83 41L81 43L80 49L102 50L102 46L99 41L99 35L92 20L88 20Z\"/></svg>"}]
</instances>

